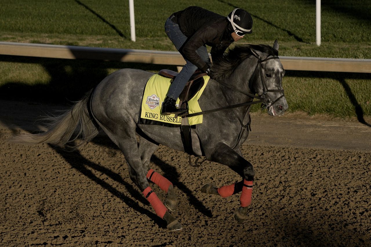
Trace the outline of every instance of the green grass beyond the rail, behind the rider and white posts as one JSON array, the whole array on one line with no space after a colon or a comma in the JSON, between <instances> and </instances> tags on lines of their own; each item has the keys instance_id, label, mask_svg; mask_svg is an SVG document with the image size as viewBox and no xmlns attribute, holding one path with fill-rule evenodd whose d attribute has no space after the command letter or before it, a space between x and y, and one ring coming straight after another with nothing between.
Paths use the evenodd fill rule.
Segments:
<instances>
[{"instance_id":1,"label":"green grass beyond the rail, behind the rider and white posts","mask_svg":"<svg viewBox=\"0 0 371 247\"><path fill-rule=\"evenodd\" d=\"M176 4L174 4L176 3ZM226 16L248 10L253 33L239 43L281 44L281 56L371 58L371 2L322 2L322 46L315 45L315 2L306 0L135 1L137 42L130 40L128 1L13 0L0 9L0 40L175 50L164 32L171 13L198 5ZM356 47L354 47L356 46Z\"/></svg>"}]
</instances>

